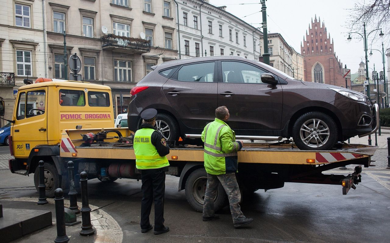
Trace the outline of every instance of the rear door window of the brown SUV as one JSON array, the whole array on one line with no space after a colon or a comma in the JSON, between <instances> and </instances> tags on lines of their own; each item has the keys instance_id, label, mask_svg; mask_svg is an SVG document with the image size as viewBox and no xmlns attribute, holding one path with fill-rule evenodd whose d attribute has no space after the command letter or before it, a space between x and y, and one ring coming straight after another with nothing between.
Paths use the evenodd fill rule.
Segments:
<instances>
[{"instance_id":1,"label":"rear door window of the brown SUV","mask_svg":"<svg viewBox=\"0 0 390 243\"><path fill-rule=\"evenodd\" d=\"M181 67L177 80L184 82L214 82L215 62L203 62Z\"/></svg>"}]
</instances>

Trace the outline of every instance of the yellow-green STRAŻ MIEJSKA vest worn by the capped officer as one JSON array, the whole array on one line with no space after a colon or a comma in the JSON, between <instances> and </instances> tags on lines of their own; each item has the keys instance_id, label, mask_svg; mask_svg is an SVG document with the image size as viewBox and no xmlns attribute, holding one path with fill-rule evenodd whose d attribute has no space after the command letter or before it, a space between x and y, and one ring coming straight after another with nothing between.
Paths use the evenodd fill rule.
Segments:
<instances>
[{"instance_id":1,"label":"yellow-green STRA\u017b MIEJSKA vest worn by the capped officer","mask_svg":"<svg viewBox=\"0 0 390 243\"><path fill-rule=\"evenodd\" d=\"M152 128L142 128L135 132L133 144L137 169L159 169L169 166L166 156L160 156L151 142Z\"/></svg>"}]
</instances>

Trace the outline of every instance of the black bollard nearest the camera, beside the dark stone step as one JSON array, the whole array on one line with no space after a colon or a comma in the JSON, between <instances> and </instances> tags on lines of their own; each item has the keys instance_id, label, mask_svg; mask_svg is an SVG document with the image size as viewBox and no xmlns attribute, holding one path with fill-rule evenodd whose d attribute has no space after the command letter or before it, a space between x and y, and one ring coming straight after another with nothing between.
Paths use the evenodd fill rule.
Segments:
<instances>
[{"instance_id":1,"label":"black bollard nearest the camera, beside the dark stone step","mask_svg":"<svg viewBox=\"0 0 390 243\"><path fill-rule=\"evenodd\" d=\"M66 243L69 241L69 237L66 235L65 229L65 217L64 217L64 191L61 188L57 188L54 191L55 196L55 218L57 222L57 238L55 243Z\"/></svg>"}]
</instances>

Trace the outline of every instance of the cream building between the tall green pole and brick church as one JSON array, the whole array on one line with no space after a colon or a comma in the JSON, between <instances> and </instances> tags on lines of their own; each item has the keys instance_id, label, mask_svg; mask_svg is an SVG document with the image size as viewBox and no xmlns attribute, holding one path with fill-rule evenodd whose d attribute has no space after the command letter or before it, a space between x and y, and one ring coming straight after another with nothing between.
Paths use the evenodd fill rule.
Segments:
<instances>
[{"instance_id":1,"label":"cream building between the tall green pole and brick church","mask_svg":"<svg viewBox=\"0 0 390 243\"><path fill-rule=\"evenodd\" d=\"M260 45L264 46L263 37L260 38ZM281 34L268 34L268 53L271 66L298 80L305 80L302 55L289 46Z\"/></svg>"}]
</instances>

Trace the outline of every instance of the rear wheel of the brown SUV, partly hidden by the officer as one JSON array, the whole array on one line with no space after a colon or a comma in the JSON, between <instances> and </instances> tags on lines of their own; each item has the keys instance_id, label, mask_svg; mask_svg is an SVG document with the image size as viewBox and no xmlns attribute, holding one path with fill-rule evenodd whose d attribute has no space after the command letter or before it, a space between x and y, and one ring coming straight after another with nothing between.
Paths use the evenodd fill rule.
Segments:
<instances>
[{"instance_id":1,"label":"rear wheel of the brown SUV, partly hidden by the officer","mask_svg":"<svg viewBox=\"0 0 390 243\"><path fill-rule=\"evenodd\" d=\"M176 120L167 114L159 113L156 116L156 128L165 140L176 141L179 138L179 125Z\"/></svg>"}]
</instances>

